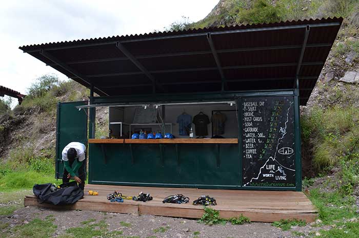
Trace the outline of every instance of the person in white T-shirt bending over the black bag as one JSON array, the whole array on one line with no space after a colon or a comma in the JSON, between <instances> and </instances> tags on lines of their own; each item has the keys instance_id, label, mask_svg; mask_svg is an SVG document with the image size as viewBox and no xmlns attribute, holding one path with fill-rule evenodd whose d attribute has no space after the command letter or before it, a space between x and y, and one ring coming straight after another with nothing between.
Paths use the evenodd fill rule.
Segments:
<instances>
[{"instance_id":1,"label":"person in white T-shirt bending over the black bag","mask_svg":"<svg viewBox=\"0 0 359 238\"><path fill-rule=\"evenodd\" d=\"M79 142L71 142L62 152L64 161L63 183L68 183L72 177L78 186L85 188L86 146Z\"/></svg>"}]
</instances>

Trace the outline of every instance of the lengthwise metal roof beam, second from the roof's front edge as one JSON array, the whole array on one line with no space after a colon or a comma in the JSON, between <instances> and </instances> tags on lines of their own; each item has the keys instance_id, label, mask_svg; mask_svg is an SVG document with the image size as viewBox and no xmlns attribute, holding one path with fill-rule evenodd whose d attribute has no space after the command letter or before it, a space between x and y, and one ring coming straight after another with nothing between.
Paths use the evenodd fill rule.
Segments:
<instances>
[{"instance_id":1,"label":"lengthwise metal roof beam, second from the roof's front edge","mask_svg":"<svg viewBox=\"0 0 359 238\"><path fill-rule=\"evenodd\" d=\"M330 47L331 44L309 44L307 48L313 47ZM233 53L233 52L246 52L246 51L260 51L260 50L281 50L281 49L298 49L302 48L302 45L293 46L268 46L268 47L247 47L247 48L236 48L236 49L224 49L216 50L217 53ZM160 58L160 57L173 57L173 56L188 56L188 55L200 55L200 54L212 54L212 51L189 51L189 52L178 52L168 54L151 54L151 55L137 55L134 56L136 59L147 59L147 58ZM102 59L90 59L90 60L76 60L68 61L66 64L81 64L81 63L97 63L97 62L108 62L108 61L120 61L129 60L127 57L116 57L116 58L102 58ZM56 64L47 64L47 66L55 66Z\"/></svg>"}]
</instances>

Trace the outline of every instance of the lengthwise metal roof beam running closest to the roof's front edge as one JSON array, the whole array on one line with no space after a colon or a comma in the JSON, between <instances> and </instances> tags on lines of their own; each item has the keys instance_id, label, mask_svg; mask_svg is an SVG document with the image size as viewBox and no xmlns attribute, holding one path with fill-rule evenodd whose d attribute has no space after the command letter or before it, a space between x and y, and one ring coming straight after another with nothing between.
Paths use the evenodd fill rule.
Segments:
<instances>
[{"instance_id":1,"label":"lengthwise metal roof beam running closest to the roof's front edge","mask_svg":"<svg viewBox=\"0 0 359 238\"><path fill-rule=\"evenodd\" d=\"M334 23L319 23L319 24L309 24L310 28L315 27L332 27L332 26L340 26L340 22ZM232 34L232 33L244 33L244 32L258 32L258 31L273 31L273 30L285 30L285 29L300 29L306 28L307 25L294 25L294 26L277 26L277 27L260 27L260 28L250 28L250 29L237 29L237 30L227 30L227 31L214 31L214 32L200 32L200 33L191 33L191 34L180 34L180 35L166 35L166 36L154 36L154 37L145 37L145 38L137 38L137 39L127 39L120 40L121 43L126 42L138 42L138 41L147 41L147 40L158 40L158 39L171 39L171 38L184 38L184 37L196 37L196 36L205 36L207 33L211 33L212 35L222 35L222 34ZM82 44L82 45L72 45L72 46L54 46L48 47L46 50L59 50L59 49L70 49L70 48L81 48L81 47L89 47L89 46L99 46L99 45L109 45L115 44L116 41L109 42L98 42L98 43L90 43L90 44ZM76 44L77 42L71 42L71 44ZM62 43L64 44L64 43ZM31 47L31 46L30 46ZM43 45L37 45L35 47L39 47L37 49L29 49L23 50L25 53L38 52ZM41 48L40 48L41 47ZM20 47L27 48L25 47Z\"/></svg>"}]
</instances>

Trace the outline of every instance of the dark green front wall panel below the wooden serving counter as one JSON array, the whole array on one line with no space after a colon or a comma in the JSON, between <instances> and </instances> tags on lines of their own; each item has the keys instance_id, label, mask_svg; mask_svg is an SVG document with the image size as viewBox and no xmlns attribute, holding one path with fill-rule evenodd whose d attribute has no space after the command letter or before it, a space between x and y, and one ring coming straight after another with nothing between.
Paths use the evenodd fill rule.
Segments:
<instances>
[{"instance_id":1,"label":"dark green front wall panel below the wooden serving counter","mask_svg":"<svg viewBox=\"0 0 359 238\"><path fill-rule=\"evenodd\" d=\"M132 162L130 144L90 144L89 183L237 187L237 146L221 144L218 150L215 144L178 144L177 157L175 144L131 144Z\"/></svg>"}]
</instances>

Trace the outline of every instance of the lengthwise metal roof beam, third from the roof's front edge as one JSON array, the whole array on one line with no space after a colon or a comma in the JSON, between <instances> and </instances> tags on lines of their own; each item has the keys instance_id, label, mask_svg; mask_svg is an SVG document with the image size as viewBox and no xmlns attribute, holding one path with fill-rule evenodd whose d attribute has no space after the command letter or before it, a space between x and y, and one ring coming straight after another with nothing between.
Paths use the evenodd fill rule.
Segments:
<instances>
[{"instance_id":1,"label":"lengthwise metal roof beam, third from the roof's front edge","mask_svg":"<svg viewBox=\"0 0 359 238\"><path fill-rule=\"evenodd\" d=\"M302 63L302 66L316 66L323 64L324 64L323 62L305 62ZM290 67L296 65L297 63L269 63L269 64L253 64L249 66L225 66L222 67L222 69L223 70L255 69L255 68L272 68L272 67ZM195 72L195 71L208 71L208 70L218 70L218 68L206 67L206 68L190 68L190 69L176 69L176 70L153 70L148 72L150 74L161 74L161 73ZM138 75L138 74L144 74L144 72L138 71L138 72L124 72L124 73L113 73L113 74L92 74L92 75L86 75L86 77L96 78L96 77L111 77L111 76Z\"/></svg>"}]
</instances>

